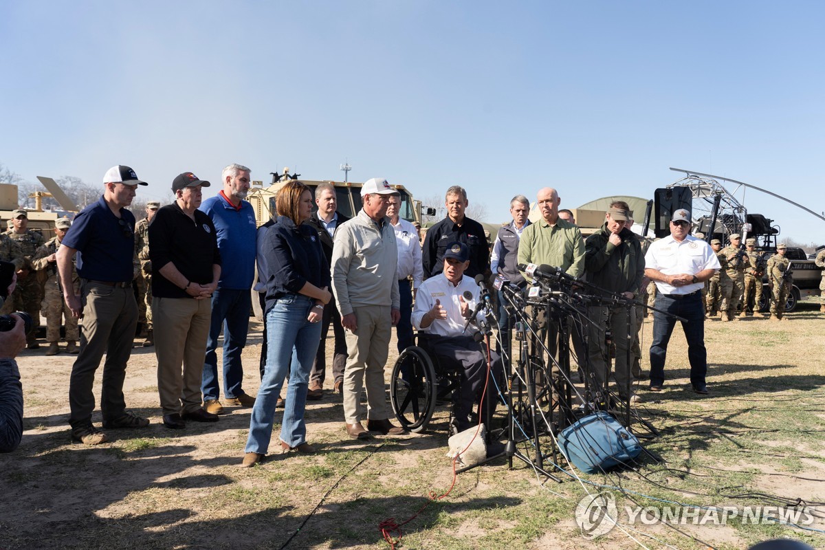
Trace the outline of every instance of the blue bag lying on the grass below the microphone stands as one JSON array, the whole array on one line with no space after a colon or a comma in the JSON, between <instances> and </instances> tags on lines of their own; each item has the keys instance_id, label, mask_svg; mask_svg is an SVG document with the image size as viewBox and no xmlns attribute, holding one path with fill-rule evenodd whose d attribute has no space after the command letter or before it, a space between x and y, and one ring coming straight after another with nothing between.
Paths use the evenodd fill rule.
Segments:
<instances>
[{"instance_id":1,"label":"blue bag lying on the grass below the microphone stands","mask_svg":"<svg viewBox=\"0 0 825 550\"><path fill-rule=\"evenodd\" d=\"M559 434L559 448L568 461L586 473L605 472L642 452L636 436L604 411L568 425Z\"/></svg>"}]
</instances>

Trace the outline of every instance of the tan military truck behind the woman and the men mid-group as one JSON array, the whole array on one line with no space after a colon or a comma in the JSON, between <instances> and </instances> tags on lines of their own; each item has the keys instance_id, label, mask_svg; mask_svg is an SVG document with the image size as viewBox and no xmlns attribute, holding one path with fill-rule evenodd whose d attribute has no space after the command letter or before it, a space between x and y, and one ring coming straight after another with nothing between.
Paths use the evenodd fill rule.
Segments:
<instances>
[{"instance_id":1,"label":"tan military truck behind the woman and the men mid-group","mask_svg":"<svg viewBox=\"0 0 825 550\"><path fill-rule=\"evenodd\" d=\"M300 174L290 174L289 168L284 168L281 174L272 172L272 181L269 186L264 187L263 181L252 181L252 186L249 189L247 200L252 204L252 209L255 210L255 219L258 227L269 221L269 219L276 215L275 197L278 191L281 190L287 181L299 180L309 187L312 191L313 199L315 198L315 188L322 183L330 183L335 187L337 195L338 212L349 216L350 218L358 214L361 209L361 186L362 183L355 183L353 181L332 181L332 180L304 180L299 177ZM398 189L398 195L401 196L401 206L399 215L411 223L421 223L422 206L420 200L413 199L413 195L406 187L391 183L393 187ZM429 210L433 210L430 212ZM435 215L434 209L427 209L425 215Z\"/></svg>"}]
</instances>

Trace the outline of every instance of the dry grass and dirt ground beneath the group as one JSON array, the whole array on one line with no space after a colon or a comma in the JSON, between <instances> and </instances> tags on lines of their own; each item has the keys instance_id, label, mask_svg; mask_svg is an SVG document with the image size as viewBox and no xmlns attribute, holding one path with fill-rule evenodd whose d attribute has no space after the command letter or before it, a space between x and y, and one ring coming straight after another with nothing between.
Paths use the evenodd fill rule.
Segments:
<instances>
[{"instance_id":1,"label":"dry grass and dirt ground beneath the group","mask_svg":"<svg viewBox=\"0 0 825 550\"><path fill-rule=\"evenodd\" d=\"M644 491L662 496L670 489L671 498L684 499L705 491L721 505L731 492L724 487L739 483L748 491L825 501L823 441L814 433L825 431L825 377L809 360L822 364L825 316L808 307L790 317L782 323L709 322L714 393L705 401L684 389L686 348L677 329L668 363L672 382L661 395L640 394L648 420L662 430L649 448L688 473L648 463L645 475L665 489L648 485ZM646 323L643 350L650 331ZM738 335L747 336L734 345ZM252 320L243 360L244 388L253 395L260 347L261 325ZM344 432L342 399L331 388L307 407L308 440L318 455L272 456L257 468L238 468L250 409L227 407L216 424L167 430L153 348L134 348L125 380L127 407L152 424L107 430L111 442L97 447L72 444L68 377L75 357L46 357L40 349L18 358L26 431L16 452L0 456L0 548L389 548L380 522L407 519L427 504L430 491L441 495L453 481L445 456L446 409L436 412L427 433L361 442ZM393 342L388 374L395 357ZM787 414L771 420L785 401ZM99 425L99 411L93 420ZM276 424L274 441L279 429ZM499 460L461 474L449 496L403 526L403 547L639 548L618 530L582 538L572 510L584 486L544 482L523 463L515 466L507 469ZM630 472L601 482L630 487L636 480ZM642 530L645 535L634 534L642 548L707 548L661 525ZM731 526L686 532L711 548L745 548L766 536ZM814 546L823 541L808 538Z\"/></svg>"}]
</instances>

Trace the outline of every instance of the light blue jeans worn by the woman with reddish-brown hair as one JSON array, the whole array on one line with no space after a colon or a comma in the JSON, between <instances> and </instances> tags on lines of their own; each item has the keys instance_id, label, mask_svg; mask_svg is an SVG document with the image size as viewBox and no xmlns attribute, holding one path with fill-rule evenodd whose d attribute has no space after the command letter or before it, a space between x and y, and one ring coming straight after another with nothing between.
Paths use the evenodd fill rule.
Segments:
<instances>
[{"instance_id":1,"label":"light blue jeans worn by the woman with reddish-brown hair","mask_svg":"<svg viewBox=\"0 0 825 550\"><path fill-rule=\"evenodd\" d=\"M286 390L281 441L290 447L306 443L304 408L309 388L309 371L321 341L321 325L307 321L314 299L301 294L281 297L266 313L266 370L252 407L247 453L266 454L275 421L275 405L281 395L287 370L290 385Z\"/></svg>"}]
</instances>

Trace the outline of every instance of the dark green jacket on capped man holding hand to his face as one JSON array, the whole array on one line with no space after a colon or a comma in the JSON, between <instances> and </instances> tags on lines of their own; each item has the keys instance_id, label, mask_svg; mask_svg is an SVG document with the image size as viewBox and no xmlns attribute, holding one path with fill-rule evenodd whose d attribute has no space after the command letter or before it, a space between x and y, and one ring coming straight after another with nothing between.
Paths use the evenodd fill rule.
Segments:
<instances>
[{"instance_id":1,"label":"dark green jacket on capped man holding hand to his face","mask_svg":"<svg viewBox=\"0 0 825 550\"><path fill-rule=\"evenodd\" d=\"M644 276L644 256L635 233L624 228L618 247L609 242L607 223L584 242L584 269L587 280L614 293L639 294Z\"/></svg>"}]
</instances>

